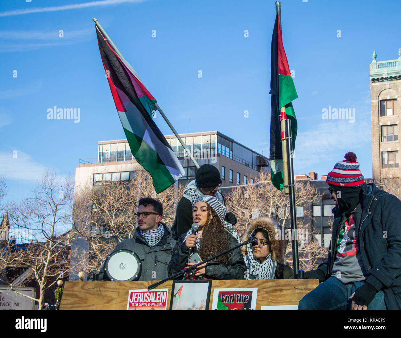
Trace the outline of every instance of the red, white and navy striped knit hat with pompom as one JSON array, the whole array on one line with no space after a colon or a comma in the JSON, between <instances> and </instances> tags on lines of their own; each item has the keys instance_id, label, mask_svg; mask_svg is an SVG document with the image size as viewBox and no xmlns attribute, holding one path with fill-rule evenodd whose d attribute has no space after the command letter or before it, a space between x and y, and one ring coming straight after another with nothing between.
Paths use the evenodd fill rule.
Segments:
<instances>
[{"instance_id":1,"label":"red, white and navy striped knit hat with pompom","mask_svg":"<svg viewBox=\"0 0 401 338\"><path fill-rule=\"evenodd\" d=\"M360 163L356 162L356 155L348 152L344 161L337 162L327 175L326 183L339 187L357 187L365 183L359 170Z\"/></svg>"}]
</instances>

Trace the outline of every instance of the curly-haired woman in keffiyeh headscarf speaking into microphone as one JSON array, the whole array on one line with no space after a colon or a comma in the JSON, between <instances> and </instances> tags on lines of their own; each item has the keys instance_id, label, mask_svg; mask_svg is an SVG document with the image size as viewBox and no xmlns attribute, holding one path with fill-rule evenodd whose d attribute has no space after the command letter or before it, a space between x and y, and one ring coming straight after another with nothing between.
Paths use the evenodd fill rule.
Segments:
<instances>
[{"instance_id":1,"label":"curly-haired woman in keffiyeh headscarf speaking into microphone","mask_svg":"<svg viewBox=\"0 0 401 338\"><path fill-rule=\"evenodd\" d=\"M224 220L227 208L210 195L198 198L193 206L192 221L199 226L198 233L188 230L180 236L172 251L168 265L169 275L180 272L188 263L189 249L196 252L201 261L209 259L241 243L233 226ZM245 279L247 268L240 248L209 261L194 271L195 279Z\"/></svg>"}]
</instances>

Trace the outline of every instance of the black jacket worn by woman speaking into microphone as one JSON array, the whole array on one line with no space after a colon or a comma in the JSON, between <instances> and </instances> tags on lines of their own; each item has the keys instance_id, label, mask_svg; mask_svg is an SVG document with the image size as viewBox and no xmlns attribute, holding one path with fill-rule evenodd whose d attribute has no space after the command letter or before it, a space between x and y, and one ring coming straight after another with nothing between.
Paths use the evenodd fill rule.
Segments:
<instances>
[{"instance_id":1,"label":"black jacket worn by woman speaking into microphone","mask_svg":"<svg viewBox=\"0 0 401 338\"><path fill-rule=\"evenodd\" d=\"M186 234L182 234L180 238L178 238L177 244L173 249L173 258L168 265L169 275L174 275L180 272L185 268L185 263L188 262L189 248L186 247L184 242L185 235ZM227 233L227 236L232 238L230 246L231 248L239 244L237 240L231 236L231 234ZM224 265L213 261L206 263L205 277L210 276L211 279L245 279L247 267L245 266L241 250L236 248L230 251L229 255L231 263L230 265ZM201 257L201 259L207 258ZM182 277L183 276L180 275L176 279L182 279Z\"/></svg>"}]
</instances>

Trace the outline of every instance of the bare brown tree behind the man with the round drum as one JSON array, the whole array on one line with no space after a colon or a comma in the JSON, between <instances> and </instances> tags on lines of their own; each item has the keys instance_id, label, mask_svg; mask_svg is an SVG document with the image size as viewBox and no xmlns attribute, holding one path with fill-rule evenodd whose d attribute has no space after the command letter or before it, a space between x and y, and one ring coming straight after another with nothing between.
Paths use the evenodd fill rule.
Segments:
<instances>
[{"instance_id":1,"label":"bare brown tree behind the man with the round drum","mask_svg":"<svg viewBox=\"0 0 401 338\"><path fill-rule=\"evenodd\" d=\"M167 226L174 221L176 203L182 195L183 185L175 183L156 194L150 175L136 171L135 179L94 185L76 194L73 212L74 231L87 246L74 252L80 262L77 270L85 274L98 272L107 255L117 243L134 235L140 198L152 197L163 204L163 218Z\"/></svg>"}]
</instances>

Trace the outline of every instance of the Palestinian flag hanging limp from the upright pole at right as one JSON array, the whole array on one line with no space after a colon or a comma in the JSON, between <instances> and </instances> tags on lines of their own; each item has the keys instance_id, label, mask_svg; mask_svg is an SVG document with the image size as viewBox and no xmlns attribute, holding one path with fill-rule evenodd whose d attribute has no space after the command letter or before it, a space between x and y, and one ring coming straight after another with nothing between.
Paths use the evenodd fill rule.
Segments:
<instances>
[{"instance_id":1,"label":"Palestinian flag hanging limp from the upright pole at right","mask_svg":"<svg viewBox=\"0 0 401 338\"><path fill-rule=\"evenodd\" d=\"M279 15L276 14L273 37L271 38L271 120L270 120L270 169L271 183L283 190L283 151L281 145L280 108L286 107L287 118L291 119L292 149L295 149L298 123L292 102L298 98L294 81L291 77L286 52L283 46Z\"/></svg>"}]
</instances>

